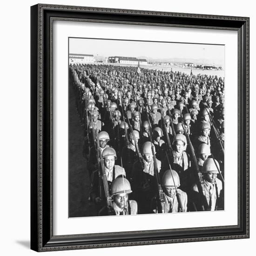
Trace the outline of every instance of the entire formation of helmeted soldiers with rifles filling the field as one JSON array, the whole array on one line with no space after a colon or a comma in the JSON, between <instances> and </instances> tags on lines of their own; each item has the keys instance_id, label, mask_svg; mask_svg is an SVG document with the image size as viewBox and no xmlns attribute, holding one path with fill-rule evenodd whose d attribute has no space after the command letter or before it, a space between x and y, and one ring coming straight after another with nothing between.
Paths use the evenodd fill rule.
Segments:
<instances>
[{"instance_id":1,"label":"entire formation of helmeted soldiers with rifles filling the field","mask_svg":"<svg viewBox=\"0 0 256 256\"><path fill-rule=\"evenodd\" d=\"M70 65L99 215L224 208L224 81Z\"/></svg>"}]
</instances>

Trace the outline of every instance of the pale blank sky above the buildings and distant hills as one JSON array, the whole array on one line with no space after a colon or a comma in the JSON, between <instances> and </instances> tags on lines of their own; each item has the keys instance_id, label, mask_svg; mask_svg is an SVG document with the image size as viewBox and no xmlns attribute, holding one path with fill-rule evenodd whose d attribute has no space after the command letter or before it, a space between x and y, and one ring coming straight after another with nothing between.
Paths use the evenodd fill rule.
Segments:
<instances>
[{"instance_id":1,"label":"pale blank sky above the buildings and distant hills","mask_svg":"<svg viewBox=\"0 0 256 256\"><path fill-rule=\"evenodd\" d=\"M224 65L223 45L188 44L173 42L148 42L102 39L69 39L69 53L93 54L94 56L145 56L154 59L186 58L204 59ZM218 62L218 63L217 63Z\"/></svg>"}]
</instances>

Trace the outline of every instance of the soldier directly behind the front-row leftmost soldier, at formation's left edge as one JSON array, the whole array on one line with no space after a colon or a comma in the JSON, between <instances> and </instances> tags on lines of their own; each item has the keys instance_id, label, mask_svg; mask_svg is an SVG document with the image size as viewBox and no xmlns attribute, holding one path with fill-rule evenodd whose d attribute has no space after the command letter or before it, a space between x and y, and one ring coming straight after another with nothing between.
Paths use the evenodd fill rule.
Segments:
<instances>
[{"instance_id":1,"label":"soldier directly behind the front-row leftmost soldier, at formation's left edge","mask_svg":"<svg viewBox=\"0 0 256 256\"><path fill-rule=\"evenodd\" d=\"M104 198L106 197L106 195L103 195L104 192L102 192L104 191L104 186L102 182L103 172L105 172L107 176L108 190L110 191L110 194L112 182L119 176L126 176L124 168L119 165L115 165L116 153L114 148L105 148L102 152L102 158L104 162L103 166L101 166L100 168L100 177L99 170L95 170L92 174L92 182L90 188L90 199L96 204L96 207L99 206L100 209L102 207L102 203L106 203L104 202ZM101 189L99 189L99 187L101 187Z\"/></svg>"}]
</instances>

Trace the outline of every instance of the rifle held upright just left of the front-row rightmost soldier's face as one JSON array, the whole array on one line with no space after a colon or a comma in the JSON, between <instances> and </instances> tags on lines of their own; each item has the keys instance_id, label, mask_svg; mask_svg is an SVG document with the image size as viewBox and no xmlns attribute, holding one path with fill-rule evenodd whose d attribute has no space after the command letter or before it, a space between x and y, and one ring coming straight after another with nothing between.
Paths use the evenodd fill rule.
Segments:
<instances>
[{"instance_id":1,"label":"rifle held upright just left of the front-row rightmost soldier's face","mask_svg":"<svg viewBox=\"0 0 256 256\"><path fill-rule=\"evenodd\" d=\"M193 147L193 145L190 141L189 135L187 134L187 131L186 131L183 120L182 120L182 125L183 125L183 129L184 129L184 133L185 133L186 138L187 138L189 148L190 148L190 152L191 152L192 159L193 159L193 162L194 162L194 165L195 165L195 169L196 169L196 172L197 172L197 178L198 179L197 179L197 184L196 185L197 185L197 188L198 188L198 192L202 195L202 198L203 198L202 209L203 210L210 210L209 204L208 204L207 199L205 197L205 183L204 183L204 180L202 178L202 173L199 170L198 162L197 162L196 157L195 157L195 149L194 149L194 147Z\"/></svg>"}]
</instances>

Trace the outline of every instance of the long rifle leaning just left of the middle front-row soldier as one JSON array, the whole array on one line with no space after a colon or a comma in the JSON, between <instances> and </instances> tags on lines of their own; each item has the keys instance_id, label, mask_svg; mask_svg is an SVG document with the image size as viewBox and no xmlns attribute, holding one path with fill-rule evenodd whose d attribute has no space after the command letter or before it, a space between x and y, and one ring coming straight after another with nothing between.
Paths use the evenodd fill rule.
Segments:
<instances>
[{"instance_id":1,"label":"long rifle leaning just left of the middle front-row soldier","mask_svg":"<svg viewBox=\"0 0 256 256\"><path fill-rule=\"evenodd\" d=\"M158 201L160 202L161 205L161 210L162 213L164 213L164 199L163 199L163 190L162 190L162 186L161 186L161 181L160 181L160 177L159 177L159 172L158 172L158 168L157 168L157 163L156 163L156 157L155 157L155 147L154 144L152 143L152 126L148 117L148 112L146 111L146 117L148 119L148 125L149 125L149 138L150 138L150 142L151 142L151 150L152 150L152 154L153 154L153 161L154 161L154 170L155 170L155 177L156 177L156 185L157 185L157 197L158 197Z\"/></svg>"}]
</instances>

